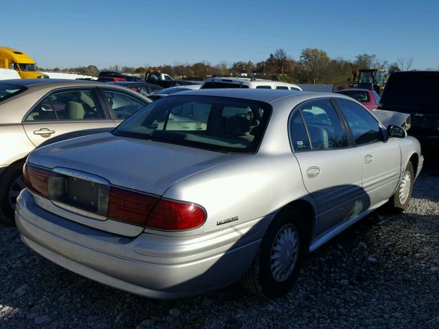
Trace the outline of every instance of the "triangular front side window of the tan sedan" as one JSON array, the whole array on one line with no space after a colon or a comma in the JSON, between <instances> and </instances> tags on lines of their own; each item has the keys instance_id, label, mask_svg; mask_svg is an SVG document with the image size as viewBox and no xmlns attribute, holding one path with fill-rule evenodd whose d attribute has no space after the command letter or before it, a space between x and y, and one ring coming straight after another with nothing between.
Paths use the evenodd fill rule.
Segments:
<instances>
[{"instance_id":1,"label":"triangular front side window of the tan sedan","mask_svg":"<svg viewBox=\"0 0 439 329\"><path fill-rule=\"evenodd\" d=\"M146 99L135 97L115 88L99 88L105 99L115 124L119 125L131 114L145 107L149 102Z\"/></svg>"}]
</instances>

